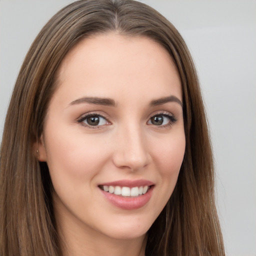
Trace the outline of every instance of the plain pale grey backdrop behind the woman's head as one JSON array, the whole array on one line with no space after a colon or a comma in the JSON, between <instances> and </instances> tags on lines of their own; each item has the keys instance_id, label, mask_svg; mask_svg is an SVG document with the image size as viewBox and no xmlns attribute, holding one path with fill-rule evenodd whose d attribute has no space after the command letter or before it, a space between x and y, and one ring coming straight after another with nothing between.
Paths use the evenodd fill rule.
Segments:
<instances>
[{"instance_id":1,"label":"plain pale grey backdrop behind the woman's head","mask_svg":"<svg viewBox=\"0 0 256 256\"><path fill-rule=\"evenodd\" d=\"M44 23L69 2L0 0L0 139L29 45ZM256 1L143 2L176 26L197 67L214 149L226 254L256 256Z\"/></svg>"}]
</instances>

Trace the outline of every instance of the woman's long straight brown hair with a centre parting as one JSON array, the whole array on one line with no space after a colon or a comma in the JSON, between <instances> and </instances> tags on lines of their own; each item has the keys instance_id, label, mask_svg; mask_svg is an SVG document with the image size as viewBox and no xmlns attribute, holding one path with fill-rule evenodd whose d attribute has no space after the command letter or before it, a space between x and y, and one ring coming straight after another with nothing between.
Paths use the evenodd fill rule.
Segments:
<instances>
[{"instance_id":1,"label":"woman's long straight brown hair with a centre parting","mask_svg":"<svg viewBox=\"0 0 256 256\"><path fill-rule=\"evenodd\" d=\"M182 83L185 155L176 187L148 230L146 255L224 255L211 144L193 61L175 27L133 0L73 2L46 23L28 50L0 149L0 255L61 255L47 164L37 161L32 145L42 132L63 57L81 38L108 31L158 42L169 52Z\"/></svg>"}]
</instances>

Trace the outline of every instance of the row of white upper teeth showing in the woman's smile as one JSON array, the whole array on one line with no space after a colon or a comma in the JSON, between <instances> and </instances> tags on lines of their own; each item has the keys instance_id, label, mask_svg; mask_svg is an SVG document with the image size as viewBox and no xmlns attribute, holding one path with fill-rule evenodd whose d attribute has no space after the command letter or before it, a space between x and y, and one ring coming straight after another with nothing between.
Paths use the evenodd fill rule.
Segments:
<instances>
[{"instance_id":1,"label":"row of white upper teeth showing in the woman's smile","mask_svg":"<svg viewBox=\"0 0 256 256\"><path fill-rule=\"evenodd\" d=\"M122 195L122 196L138 196L141 194L145 194L148 189L149 186L134 186L134 187L127 187L127 186L107 186L107 185L103 185L103 187L101 187L101 189L103 188L103 190L105 192L109 192L109 193L114 193L116 195Z\"/></svg>"}]
</instances>

